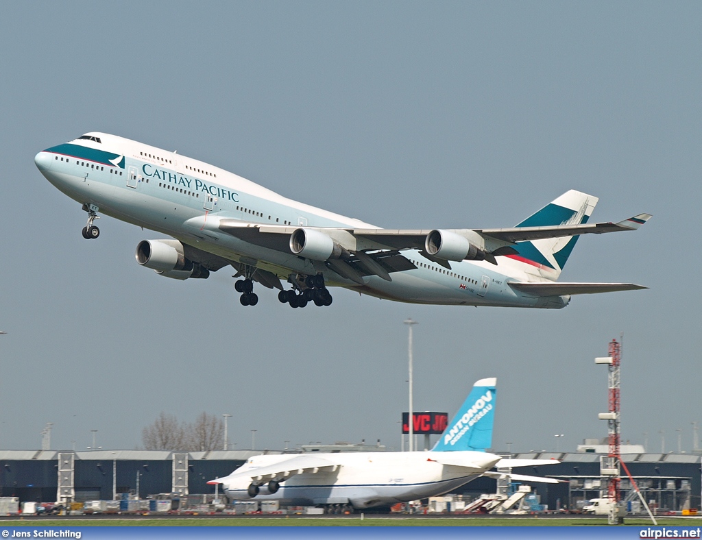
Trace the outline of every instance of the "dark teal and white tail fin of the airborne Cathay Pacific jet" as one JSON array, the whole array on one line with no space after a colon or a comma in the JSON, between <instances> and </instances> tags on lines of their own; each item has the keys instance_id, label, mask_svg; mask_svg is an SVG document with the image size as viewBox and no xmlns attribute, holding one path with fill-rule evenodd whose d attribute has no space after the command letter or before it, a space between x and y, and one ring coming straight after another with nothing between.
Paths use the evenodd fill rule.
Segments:
<instances>
[{"instance_id":1,"label":"dark teal and white tail fin of the airborne Cathay Pacific jet","mask_svg":"<svg viewBox=\"0 0 702 540\"><path fill-rule=\"evenodd\" d=\"M517 224L517 227L586 223L592 210L595 210L597 201L595 196L571 189ZM578 238L579 236L561 236L519 242L514 246L518 255L510 255L510 257L542 269L545 277L555 281L565 266Z\"/></svg>"}]
</instances>

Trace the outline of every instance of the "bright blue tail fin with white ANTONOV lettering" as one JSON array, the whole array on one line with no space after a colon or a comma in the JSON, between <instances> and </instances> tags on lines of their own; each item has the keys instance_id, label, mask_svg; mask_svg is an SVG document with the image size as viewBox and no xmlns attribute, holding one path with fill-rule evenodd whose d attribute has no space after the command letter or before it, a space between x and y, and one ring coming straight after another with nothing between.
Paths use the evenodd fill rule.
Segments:
<instances>
[{"instance_id":1,"label":"bright blue tail fin with white ANTONOV lettering","mask_svg":"<svg viewBox=\"0 0 702 540\"><path fill-rule=\"evenodd\" d=\"M449 422L433 452L484 451L492 446L497 379L480 379Z\"/></svg>"}]
</instances>

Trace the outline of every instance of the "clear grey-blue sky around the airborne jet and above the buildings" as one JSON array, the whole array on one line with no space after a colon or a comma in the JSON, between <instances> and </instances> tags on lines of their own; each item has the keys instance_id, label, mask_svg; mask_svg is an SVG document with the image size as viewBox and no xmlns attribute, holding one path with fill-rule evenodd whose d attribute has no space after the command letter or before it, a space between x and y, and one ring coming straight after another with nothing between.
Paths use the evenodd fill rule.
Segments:
<instances>
[{"instance_id":1,"label":"clear grey-blue sky around the airborne jet and above the buildings","mask_svg":"<svg viewBox=\"0 0 702 540\"><path fill-rule=\"evenodd\" d=\"M6 2L0 7L0 447L132 448L161 410L230 413L237 448L399 446L406 328L416 408L498 377L494 446L606 434L625 332L623 438L691 449L699 405L702 6L698 2ZM563 281L641 292L562 311L412 306L336 292L239 305L223 269L171 281L141 231L87 242L37 151L100 130L177 149L383 227L509 227L567 189L593 219Z\"/></svg>"}]
</instances>

